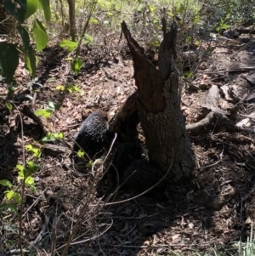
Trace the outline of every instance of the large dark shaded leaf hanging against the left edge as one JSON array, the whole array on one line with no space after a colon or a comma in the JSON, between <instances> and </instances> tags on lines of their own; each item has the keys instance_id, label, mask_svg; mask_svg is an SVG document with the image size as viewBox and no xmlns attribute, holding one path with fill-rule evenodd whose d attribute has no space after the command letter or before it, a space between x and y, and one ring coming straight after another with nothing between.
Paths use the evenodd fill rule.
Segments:
<instances>
[{"instance_id":1,"label":"large dark shaded leaf hanging against the left edge","mask_svg":"<svg viewBox=\"0 0 255 256\"><path fill-rule=\"evenodd\" d=\"M0 43L0 70L3 71L3 77L7 82L12 82L14 73L19 65L19 52L14 44Z\"/></svg>"}]
</instances>

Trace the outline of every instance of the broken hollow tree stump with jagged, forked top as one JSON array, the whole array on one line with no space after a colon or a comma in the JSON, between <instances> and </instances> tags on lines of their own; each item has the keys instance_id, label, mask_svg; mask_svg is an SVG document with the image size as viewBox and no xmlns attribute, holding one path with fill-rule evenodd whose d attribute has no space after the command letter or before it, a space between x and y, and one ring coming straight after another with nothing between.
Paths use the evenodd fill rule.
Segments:
<instances>
[{"instance_id":1,"label":"broken hollow tree stump with jagged, forked top","mask_svg":"<svg viewBox=\"0 0 255 256\"><path fill-rule=\"evenodd\" d=\"M133 57L134 79L138 91L128 98L129 104L123 106L126 111L122 108L116 116L113 130L117 131L120 125L116 123L120 120L123 122L125 114L130 117L132 111L137 110L150 160L167 172L173 159L168 180L175 184L187 184L190 183L192 169L195 167L195 156L179 102L178 71L174 65L177 26L173 23L170 31L166 31L164 19L162 24L164 39L159 50L157 70L146 58L144 48L139 47L125 22L122 22L122 31ZM133 107L135 104L136 107Z\"/></svg>"}]
</instances>

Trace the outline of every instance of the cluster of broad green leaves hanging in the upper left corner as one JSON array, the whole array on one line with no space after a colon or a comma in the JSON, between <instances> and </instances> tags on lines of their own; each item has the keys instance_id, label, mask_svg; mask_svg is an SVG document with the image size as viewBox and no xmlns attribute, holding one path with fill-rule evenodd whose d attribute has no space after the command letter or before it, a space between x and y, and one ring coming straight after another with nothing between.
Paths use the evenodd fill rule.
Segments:
<instances>
[{"instance_id":1,"label":"cluster of broad green leaves hanging in the upper left corner","mask_svg":"<svg viewBox=\"0 0 255 256\"><path fill-rule=\"evenodd\" d=\"M0 42L0 75L8 86L8 90L14 91L14 72L19 65L20 54L24 56L26 69L32 77L36 76L37 58L35 52L41 51L48 44L48 35L45 26L40 20L34 19L32 26L32 37L35 40L35 48L31 43L31 35L24 25L25 20L42 9L46 22L50 20L51 11L49 0L14 0L3 1L3 7L17 21L16 30L20 35L22 45L17 40L16 43ZM19 8L18 8L19 7Z\"/></svg>"}]
</instances>

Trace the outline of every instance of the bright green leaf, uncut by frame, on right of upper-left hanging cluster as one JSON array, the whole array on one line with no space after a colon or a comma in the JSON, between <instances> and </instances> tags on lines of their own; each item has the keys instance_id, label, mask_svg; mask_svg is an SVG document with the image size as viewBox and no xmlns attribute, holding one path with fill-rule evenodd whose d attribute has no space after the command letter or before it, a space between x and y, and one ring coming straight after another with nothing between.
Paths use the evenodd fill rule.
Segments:
<instances>
[{"instance_id":1,"label":"bright green leaf, uncut by frame, on right of upper-left hanging cluster","mask_svg":"<svg viewBox=\"0 0 255 256\"><path fill-rule=\"evenodd\" d=\"M33 33L36 39L37 52L41 51L48 44L48 35L40 20L34 21Z\"/></svg>"}]
</instances>

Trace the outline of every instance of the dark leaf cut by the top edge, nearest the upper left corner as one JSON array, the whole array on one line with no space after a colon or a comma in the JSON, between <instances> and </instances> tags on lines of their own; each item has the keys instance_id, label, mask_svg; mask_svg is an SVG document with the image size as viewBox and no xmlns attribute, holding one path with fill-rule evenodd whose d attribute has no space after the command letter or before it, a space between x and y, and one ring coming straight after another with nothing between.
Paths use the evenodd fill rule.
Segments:
<instances>
[{"instance_id":1,"label":"dark leaf cut by the top edge, nearest the upper left corner","mask_svg":"<svg viewBox=\"0 0 255 256\"><path fill-rule=\"evenodd\" d=\"M14 16L17 21L20 23L24 22L26 14L26 0L4 0L2 3L8 13ZM19 8L17 8L17 4L19 5Z\"/></svg>"}]
</instances>

